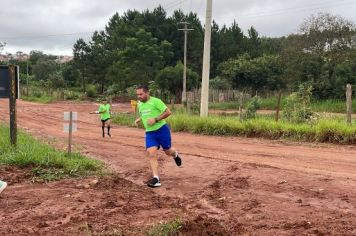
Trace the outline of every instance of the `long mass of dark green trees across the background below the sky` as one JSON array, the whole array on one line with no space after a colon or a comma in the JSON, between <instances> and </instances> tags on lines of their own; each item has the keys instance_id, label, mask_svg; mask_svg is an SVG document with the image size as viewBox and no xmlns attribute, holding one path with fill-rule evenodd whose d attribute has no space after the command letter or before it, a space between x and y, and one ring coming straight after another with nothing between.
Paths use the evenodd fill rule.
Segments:
<instances>
[{"instance_id":1,"label":"long mass of dark green trees across the background below the sky","mask_svg":"<svg viewBox=\"0 0 356 236\"><path fill-rule=\"evenodd\" d=\"M201 83L204 26L196 13L162 7L116 13L105 30L90 41L78 39L74 59L58 64L54 56L30 54L31 80L53 88L77 87L123 95L138 84L180 96L184 35L179 22L189 22L187 88ZM353 22L328 13L302 22L295 34L261 37L254 27L243 32L238 22L212 24L210 85L251 93L293 91L311 85L318 99L343 98L345 85L356 84L356 30ZM22 64L24 62L21 62ZM25 62L26 63L26 62ZM21 72L26 73L26 65Z\"/></svg>"}]
</instances>

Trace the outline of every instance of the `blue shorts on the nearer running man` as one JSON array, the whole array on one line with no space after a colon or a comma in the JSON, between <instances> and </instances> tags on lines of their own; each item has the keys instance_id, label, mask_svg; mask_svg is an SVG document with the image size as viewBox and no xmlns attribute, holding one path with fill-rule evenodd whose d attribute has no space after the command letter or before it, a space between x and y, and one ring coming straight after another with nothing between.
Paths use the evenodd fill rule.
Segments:
<instances>
[{"instance_id":1,"label":"blue shorts on the nearer running man","mask_svg":"<svg viewBox=\"0 0 356 236\"><path fill-rule=\"evenodd\" d=\"M146 149L150 147L162 146L163 150L168 150L172 147L171 131L167 124L155 131L146 132Z\"/></svg>"}]
</instances>

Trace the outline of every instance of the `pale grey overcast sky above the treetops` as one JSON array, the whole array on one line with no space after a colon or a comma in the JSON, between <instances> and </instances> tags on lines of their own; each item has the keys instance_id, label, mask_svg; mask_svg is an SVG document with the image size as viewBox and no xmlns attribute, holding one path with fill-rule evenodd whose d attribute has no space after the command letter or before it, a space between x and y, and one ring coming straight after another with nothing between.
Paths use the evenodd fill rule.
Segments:
<instances>
[{"instance_id":1,"label":"pale grey overcast sky above the treetops","mask_svg":"<svg viewBox=\"0 0 356 236\"><path fill-rule=\"evenodd\" d=\"M204 23L206 10L206 0L0 0L0 4L3 53L41 50L56 55L71 55L78 38L89 40L115 12L162 5L168 15L176 9L196 12ZM235 19L245 32L254 26L263 36L295 33L318 12L356 23L356 0L213 0L213 19L219 26Z\"/></svg>"}]
</instances>

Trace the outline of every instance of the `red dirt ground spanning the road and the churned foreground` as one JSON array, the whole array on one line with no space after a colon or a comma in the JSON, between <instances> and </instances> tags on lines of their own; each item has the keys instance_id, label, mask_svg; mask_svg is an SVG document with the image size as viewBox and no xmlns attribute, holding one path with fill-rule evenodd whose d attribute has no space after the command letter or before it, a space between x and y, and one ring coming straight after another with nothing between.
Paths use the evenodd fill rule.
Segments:
<instances>
[{"instance_id":1,"label":"red dirt ground spanning the road and the churned foreground","mask_svg":"<svg viewBox=\"0 0 356 236\"><path fill-rule=\"evenodd\" d=\"M27 181L0 168L0 235L141 235L177 217L183 235L356 235L356 148L173 133L183 166L161 155L162 187L149 189L144 131L114 126L101 138L97 104L18 102L18 125L65 148L63 112L78 112L75 149L114 177ZM129 104L114 104L129 111ZM0 101L0 118L8 103ZM93 180L98 179L98 183Z\"/></svg>"}]
</instances>

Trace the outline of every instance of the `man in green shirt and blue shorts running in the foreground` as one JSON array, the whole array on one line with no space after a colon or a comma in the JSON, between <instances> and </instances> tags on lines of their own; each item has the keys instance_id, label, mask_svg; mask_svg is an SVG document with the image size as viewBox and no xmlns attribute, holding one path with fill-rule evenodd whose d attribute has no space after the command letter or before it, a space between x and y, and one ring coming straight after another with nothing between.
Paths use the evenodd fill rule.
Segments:
<instances>
[{"instance_id":1,"label":"man in green shirt and blue shorts running in the foreground","mask_svg":"<svg viewBox=\"0 0 356 236\"><path fill-rule=\"evenodd\" d=\"M159 187L161 182L158 175L157 150L162 147L163 151L174 158L177 166L182 165L178 152L171 144L171 131L165 122L165 118L171 115L169 108L158 98L149 94L147 86L140 86L136 90L139 100L138 112L140 118L135 124L142 122L146 130L146 150L150 160L153 178L147 182L149 187Z\"/></svg>"}]
</instances>

